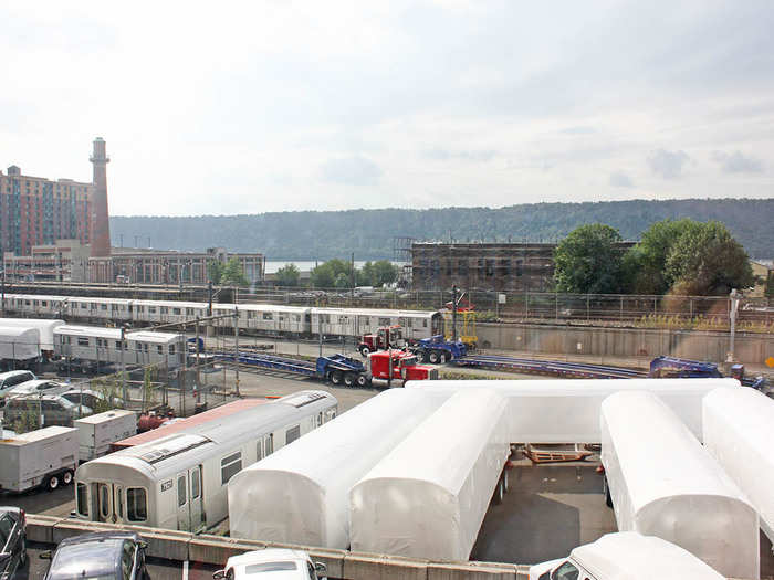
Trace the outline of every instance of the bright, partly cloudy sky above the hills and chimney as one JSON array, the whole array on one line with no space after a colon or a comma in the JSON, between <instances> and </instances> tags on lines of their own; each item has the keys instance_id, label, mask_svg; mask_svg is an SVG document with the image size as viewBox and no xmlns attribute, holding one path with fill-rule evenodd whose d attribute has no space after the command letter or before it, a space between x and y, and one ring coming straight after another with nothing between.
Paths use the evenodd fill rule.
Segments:
<instances>
[{"instance_id":1,"label":"bright, partly cloudy sky above the hills and chimney","mask_svg":"<svg viewBox=\"0 0 774 580\"><path fill-rule=\"evenodd\" d=\"M771 198L774 2L0 6L0 168L114 215Z\"/></svg>"}]
</instances>

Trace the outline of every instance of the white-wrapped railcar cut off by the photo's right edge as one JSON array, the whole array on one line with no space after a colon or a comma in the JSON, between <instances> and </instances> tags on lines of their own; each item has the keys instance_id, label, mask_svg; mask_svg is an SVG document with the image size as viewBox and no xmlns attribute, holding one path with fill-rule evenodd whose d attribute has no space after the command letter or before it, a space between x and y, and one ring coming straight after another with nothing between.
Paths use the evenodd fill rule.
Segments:
<instances>
[{"instance_id":1,"label":"white-wrapped railcar cut off by the photo's right edge","mask_svg":"<svg viewBox=\"0 0 774 580\"><path fill-rule=\"evenodd\" d=\"M750 498L774 541L774 401L754 389L704 397L704 446Z\"/></svg>"}]
</instances>

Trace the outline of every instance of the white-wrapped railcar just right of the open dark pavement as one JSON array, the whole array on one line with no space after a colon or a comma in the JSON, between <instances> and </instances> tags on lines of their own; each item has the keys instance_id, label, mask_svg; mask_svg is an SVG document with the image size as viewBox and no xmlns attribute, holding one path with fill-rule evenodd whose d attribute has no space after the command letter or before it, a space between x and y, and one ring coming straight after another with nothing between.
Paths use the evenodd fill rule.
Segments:
<instances>
[{"instance_id":1,"label":"white-wrapped railcar just right of the open dark pavement","mask_svg":"<svg viewBox=\"0 0 774 580\"><path fill-rule=\"evenodd\" d=\"M600 423L619 531L677 544L725 577L760 578L755 508L662 401L613 394Z\"/></svg>"}]
</instances>

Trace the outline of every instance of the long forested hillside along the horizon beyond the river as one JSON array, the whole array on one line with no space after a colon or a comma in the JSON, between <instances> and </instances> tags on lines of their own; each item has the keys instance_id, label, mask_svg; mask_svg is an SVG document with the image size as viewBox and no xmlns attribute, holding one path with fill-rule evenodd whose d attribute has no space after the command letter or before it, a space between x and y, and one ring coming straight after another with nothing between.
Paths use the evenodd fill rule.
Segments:
<instances>
[{"instance_id":1,"label":"long forested hillside along the horizon beyond the river","mask_svg":"<svg viewBox=\"0 0 774 580\"><path fill-rule=\"evenodd\" d=\"M431 210L346 210L253 215L113 217L113 245L262 252L270 260L327 260L355 253L356 260L393 257L393 238L457 241L556 241L585 223L617 228L637 240L667 218L718 220L752 257L774 257L774 198L668 201L532 203L508 208Z\"/></svg>"}]
</instances>

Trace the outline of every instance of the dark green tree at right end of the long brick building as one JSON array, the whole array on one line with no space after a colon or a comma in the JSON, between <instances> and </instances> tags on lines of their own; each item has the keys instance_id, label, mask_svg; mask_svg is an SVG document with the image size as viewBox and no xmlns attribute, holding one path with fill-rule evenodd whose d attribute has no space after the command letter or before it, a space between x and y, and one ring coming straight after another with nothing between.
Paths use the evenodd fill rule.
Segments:
<instances>
[{"instance_id":1,"label":"dark green tree at right end of the long brick building","mask_svg":"<svg viewBox=\"0 0 774 580\"><path fill-rule=\"evenodd\" d=\"M573 230L554 251L557 292L614 294L621 289L618 230L602 223Z\"/></svg>"}]
</instances>

